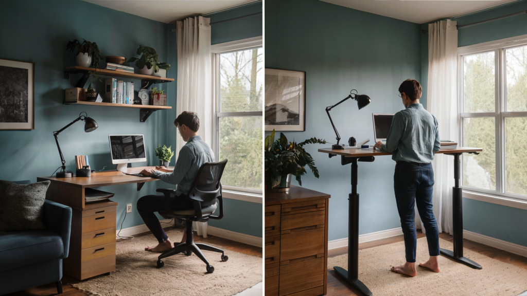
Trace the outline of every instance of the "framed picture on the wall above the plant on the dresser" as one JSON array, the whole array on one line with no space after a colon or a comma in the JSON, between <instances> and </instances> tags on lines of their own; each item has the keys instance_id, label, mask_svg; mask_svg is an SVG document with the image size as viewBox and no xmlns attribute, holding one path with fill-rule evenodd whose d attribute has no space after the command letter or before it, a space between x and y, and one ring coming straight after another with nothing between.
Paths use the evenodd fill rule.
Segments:
<instances>
[{"instance_id":1,"label":"framed picture on the wall above the plant on the dresser","mask_svg":"<svg viewBox=\"0 0 527 296\"><path fill-rule=\"evenodd\" d=\"M306 130L306 72L265 69L265 130Z\"/></svg>"}]
</instances>

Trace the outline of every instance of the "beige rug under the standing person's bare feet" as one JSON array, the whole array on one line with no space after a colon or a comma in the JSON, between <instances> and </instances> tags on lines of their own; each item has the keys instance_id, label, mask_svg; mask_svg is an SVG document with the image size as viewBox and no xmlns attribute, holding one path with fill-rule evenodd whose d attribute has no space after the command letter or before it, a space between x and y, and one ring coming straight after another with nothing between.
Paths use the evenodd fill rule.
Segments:
<instances>
[{"instance_id":1,"label":"beige rug under the standing person's bare feet","mask_svg":"<svg viewBox=\"0 0 527 296\"><path fill-rule=\"evenodd\" d=\"M452 250L449 241L440 239L441 248ZM359 250L359 280L375 296L380 295L477 295L516 296L527 290L527 270L494 260L485 255L463 250L466 258L479 263L477 270L440 255L441 272L417 267L417 276L408 277L390 271L405 262L404 242ZM416 265L428 260L426 238L417 239ZM347 269L347 254L328 258L328 268Z\"/></svg>"}]
</instances>

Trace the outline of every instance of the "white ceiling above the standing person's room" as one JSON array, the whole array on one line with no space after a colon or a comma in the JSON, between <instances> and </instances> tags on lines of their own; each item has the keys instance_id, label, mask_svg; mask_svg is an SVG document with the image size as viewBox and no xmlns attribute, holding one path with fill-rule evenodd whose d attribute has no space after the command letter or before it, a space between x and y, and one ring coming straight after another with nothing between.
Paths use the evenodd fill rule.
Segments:
<instances>
[{"instance_id":1,"label":"white ceiling above the standing person's room","mask_svg":"<svg viewBox=\"0 0 527 296\"><path fill-rule=\"evenodd\" d=\"M321 0L417 24L464 15L516 0Z\"/></svg>"}]
</instances>

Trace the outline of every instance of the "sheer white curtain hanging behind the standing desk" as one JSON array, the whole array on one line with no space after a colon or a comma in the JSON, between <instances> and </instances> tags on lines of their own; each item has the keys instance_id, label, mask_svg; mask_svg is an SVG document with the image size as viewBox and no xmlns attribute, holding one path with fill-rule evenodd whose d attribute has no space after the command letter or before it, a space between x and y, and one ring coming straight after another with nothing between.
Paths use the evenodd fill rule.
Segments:
<instances>
[{"instance_id":1,"label":"sheer white curtain hanging behind the standing desk","mask_svg":"<svg viewBox=\"0 0 527 296\"><path fill-rule=\"evenodd\" d=\"M457 22L439 21L428 25L428 92L426 108L439 124L441 140L458 141L457 127ZM458 143L461 146L461 143ZM434 167L434 215L439 232L452 232L452 187L454 160L437 154ZM417 213L417 212L416 212ZM417 228L421 219L416 215Z\"/></svg>"}]
</instances>

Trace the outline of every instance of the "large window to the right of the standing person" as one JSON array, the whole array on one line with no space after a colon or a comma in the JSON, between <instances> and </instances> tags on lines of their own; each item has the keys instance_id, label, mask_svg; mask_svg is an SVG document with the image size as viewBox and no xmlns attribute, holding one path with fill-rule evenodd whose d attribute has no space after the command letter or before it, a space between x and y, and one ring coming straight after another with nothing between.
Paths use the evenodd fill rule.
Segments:
<instances>
[{"instance_id":1,"label":"large window to the right of the standing person","mask_svg":"<svg viewBox=\"0 0 527 296\"><path fill-rule=\"evenodd\" d=\"M527 36L525 36L527 37ZM458 48L465 190L527 200L527 41Z\"/></svg>"}]
</instances>

